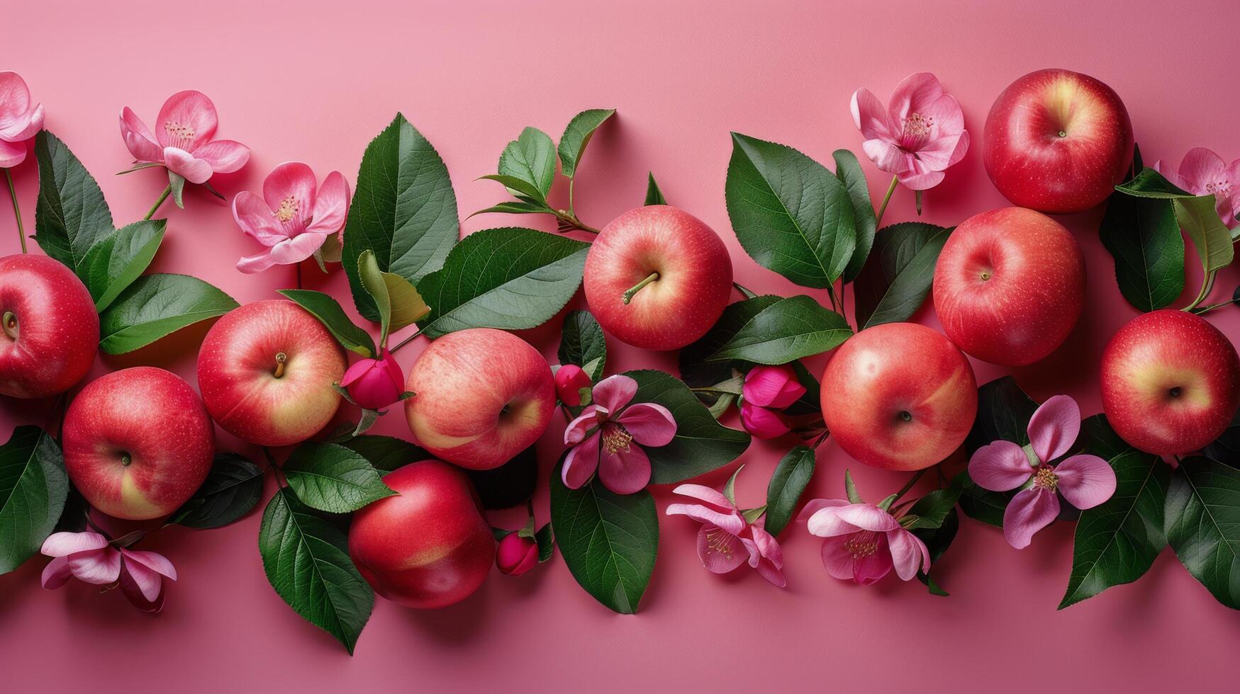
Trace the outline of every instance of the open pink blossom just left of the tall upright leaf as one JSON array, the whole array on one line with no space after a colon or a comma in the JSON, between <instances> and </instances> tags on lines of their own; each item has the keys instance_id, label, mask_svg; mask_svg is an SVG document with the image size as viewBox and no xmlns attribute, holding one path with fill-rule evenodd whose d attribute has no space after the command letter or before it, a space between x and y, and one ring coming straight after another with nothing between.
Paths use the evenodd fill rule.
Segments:
<instances>
[{"instance_id":1,"label":"open pink blossom just left of the tall upright leaf","mask_svg":"<svg viewBox=\"0 0 1240 694\"><path fill-rule=\"evenodd\" d=\"M233 198L237 226L268 247L238 260L237 269L252 274L272 265L300 263L345 227L347 214L348 183L339 171L327 174L316 192L309 166L281 164L263 181L263 197L243 191Z\"/></svg>"}]
</instances>

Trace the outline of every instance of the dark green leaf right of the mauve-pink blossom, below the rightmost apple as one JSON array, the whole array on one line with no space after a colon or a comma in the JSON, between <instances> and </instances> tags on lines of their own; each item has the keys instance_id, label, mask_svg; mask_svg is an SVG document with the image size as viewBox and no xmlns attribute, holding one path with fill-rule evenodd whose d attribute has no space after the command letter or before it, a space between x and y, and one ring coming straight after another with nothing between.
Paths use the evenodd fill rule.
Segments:
<instances>
[{"instance_id":1,"label":"dark green leaf right of the mauve-pink blossom, below the rightmost apple","mask_svg":"<svg viewBox=\"0 0 1240 694\"><path fill-rule=\"evenodd\" d=\"M1167 547L1163 534L1171 483L1167 463L1121 440L1105 415L1086 419L1081 439L1085 452L1111 463L1116 487L1110 499L1081 511L1073 544L1073 570L1060 610L1140 579Z\"/></svg>"}]
</instances>

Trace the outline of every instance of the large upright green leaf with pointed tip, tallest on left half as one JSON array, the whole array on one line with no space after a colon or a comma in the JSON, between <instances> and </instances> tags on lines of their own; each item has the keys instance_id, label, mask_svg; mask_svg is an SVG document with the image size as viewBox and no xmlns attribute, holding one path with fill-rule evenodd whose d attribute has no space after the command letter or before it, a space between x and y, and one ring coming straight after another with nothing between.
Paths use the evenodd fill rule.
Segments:
<instances>
[{"instance_id":1,"label":"large upright green leaf with pointed tip, tallest on left half","mask_svg":"<svg viewBox=\"0 0 1240 694\"><path fill-rule=\"evenodd\" d=\"M435 147L397 114L366 146L345 224L341 263L362 317L376 322L379 317L357 274L363 250L374 253L381 270L417 285L443 266L459 232L448 167Z\"/></svg>"}]
</instances>

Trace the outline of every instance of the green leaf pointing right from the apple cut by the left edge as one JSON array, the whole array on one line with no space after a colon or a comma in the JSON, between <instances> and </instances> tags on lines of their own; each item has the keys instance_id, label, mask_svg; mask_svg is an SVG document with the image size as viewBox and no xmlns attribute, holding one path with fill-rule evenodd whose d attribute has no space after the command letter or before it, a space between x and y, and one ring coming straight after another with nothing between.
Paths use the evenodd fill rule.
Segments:
<instances>
[{"instance_id":1,"label":"green leaf pointing right from the apple cut by the left edge","mask_svg":"<svg viewBox=\"0 0 1240 694\"><path fill-rule=\"evenodd\" d=\"M138 278L99 316L99 348L124 354L238 306L232 296L190 275Z\"/></svg>"}]
</instances>

